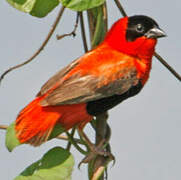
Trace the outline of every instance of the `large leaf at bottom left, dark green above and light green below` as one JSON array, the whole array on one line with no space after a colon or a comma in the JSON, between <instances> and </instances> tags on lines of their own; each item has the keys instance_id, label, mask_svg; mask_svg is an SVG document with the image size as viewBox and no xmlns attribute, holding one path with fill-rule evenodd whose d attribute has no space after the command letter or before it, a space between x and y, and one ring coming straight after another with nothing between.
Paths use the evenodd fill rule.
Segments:
<instances>
[{"instance_id":1,"label":"large leaf at bottom left, dark green above and light green below","mask_svg":"<svg viewBox=\"0 0 181 180\"><path fill-rule=\"evenodd\" d=\"M15 180L70 180L73 166L74 159L70 152L55 147L26 168Z\"/></svg>"}]
</instances>

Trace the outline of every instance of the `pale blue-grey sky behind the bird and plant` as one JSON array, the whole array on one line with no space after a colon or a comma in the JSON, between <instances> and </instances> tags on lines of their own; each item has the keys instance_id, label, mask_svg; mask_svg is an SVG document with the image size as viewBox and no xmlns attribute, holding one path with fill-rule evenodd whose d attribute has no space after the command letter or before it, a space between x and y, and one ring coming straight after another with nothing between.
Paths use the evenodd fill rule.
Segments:
<instances>
[{"instance_id":1,"label":"pale blue-grey sky behind the bird and plant","mask_svg":"<svg viewBox=\"0 0 181 180\"><path fill-rule=\"evenodd\" d=\"M113 1L108 2L109 27L120 18ZM122 1L129 15L153 17L168 37L159 40L157 51L181 73L181 1ZM30 57L47 35L60 7L43 19L17 11L5 0L0 3L0 74ZM56 30L70 32L75 12L66 10ZM0 86L0 124L10 124L40 87L56 71L83 54L79 30L76 38L57 41L55 35L44 51L29 65L10 73ZM110 111L111 146L116 164L109 166L109 180L181 179L181 84L155 58L151 77L142 92ZM90 127L87 133L92 136ZM23 145L9 153L5 131L0 130L0 179L12 180L22 170L57 145L52 140L38 148ZM72 151L76 165L73 180L87 179L83 158Z\"/></svg>"}]
</instances>

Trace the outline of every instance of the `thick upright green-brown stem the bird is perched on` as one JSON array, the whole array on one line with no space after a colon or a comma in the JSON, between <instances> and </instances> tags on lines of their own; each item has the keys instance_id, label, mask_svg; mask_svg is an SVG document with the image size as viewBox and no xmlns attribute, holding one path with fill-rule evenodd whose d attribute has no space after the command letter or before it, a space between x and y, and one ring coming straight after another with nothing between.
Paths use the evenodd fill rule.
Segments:
<instances>
[{"instance_id":1,"label":"thick upright green-brown stem the bird is perched on","mask_svg":"<svg viewBox=\"0 0 181 180\"><path fill-rule=\"evenodd\" d=\"M107 7L106 3L97 8L87 11L91 47L95 48L102 42L107 32ZM107 136L107 112L96 116L96 145ZM106 166L109 162L108 157L97 156L88 165L89 179L103 180Z\"/></svg>"}]
</instances>

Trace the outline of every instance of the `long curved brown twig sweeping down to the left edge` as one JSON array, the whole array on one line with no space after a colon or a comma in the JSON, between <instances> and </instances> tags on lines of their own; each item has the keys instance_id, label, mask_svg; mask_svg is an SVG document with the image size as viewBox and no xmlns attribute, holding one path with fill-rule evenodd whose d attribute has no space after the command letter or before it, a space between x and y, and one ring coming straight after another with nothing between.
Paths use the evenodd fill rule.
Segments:
<instances>
[{"instance_id":1,"label":"long curved brown twig sweeping down to the left edge","mask_svg":"<svg viewBox=\"0 0 181 180\"><path fill-rule=\"evenodd\" d=\"M59 11L59 13L58 13L58 15L57 15L57 18L56 18L55 22L53 23L53 25L52 25L52 27L51 27L51 29L50 29L50 31L49 31L46 39L44 40L44 42L42 43L42 45L40 46L40 48L39 48L27 61L25 61L25 62L23 62L23 63L21 63L21 64L18 64L18 65L16 65L16 66L13 66L13 67L9 68L8 70L6 70L6 71L0 76L0 83L1 83L1 81L3 80L3 78L4 78L9 72L11 72L12 70L15 70L15 69L17 69L17 68L20 68L20 67L24 66L25 64L30 63L36 56L38 56L38 55L40 54L40 52L44 49L44 47L45 47L46 44L48 43L49 39L51 38L52 34L54 33L55 28L57 27L57 25L58 25L58 23L59 23L59 21L60 21L60 18L62 17L62 14L63 14L63 12L64 12L64 9L65 9L65 7L62 6L61 9L60 9L60 11Z\"/></svg>"}]
</instances>

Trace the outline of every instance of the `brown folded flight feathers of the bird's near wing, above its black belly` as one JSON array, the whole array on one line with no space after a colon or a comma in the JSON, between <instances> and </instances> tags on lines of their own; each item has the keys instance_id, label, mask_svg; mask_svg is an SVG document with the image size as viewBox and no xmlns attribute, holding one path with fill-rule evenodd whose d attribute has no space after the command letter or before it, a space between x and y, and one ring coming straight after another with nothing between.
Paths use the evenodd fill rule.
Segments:
<instances>
[{"instance_id":1,"label":"brown folded flight feathers of the bird's near wing, above its black belly","mask_svg":"<svg viewBox=\"0 0 181 180\"><path fill-rule=\"evenodd\" d=\"M41 105L48 106L89 102L109 97L114 94L122 94L131 86L138 83L135 69L127 71L127 73L124 73L124 76L118 80L100 86L103 81L105 81L103 76L100 78L92 75L81 77L80 74L75 74L63 81L44 100L42 100Z\"/></svg>"}]
</instances>

